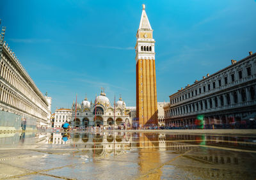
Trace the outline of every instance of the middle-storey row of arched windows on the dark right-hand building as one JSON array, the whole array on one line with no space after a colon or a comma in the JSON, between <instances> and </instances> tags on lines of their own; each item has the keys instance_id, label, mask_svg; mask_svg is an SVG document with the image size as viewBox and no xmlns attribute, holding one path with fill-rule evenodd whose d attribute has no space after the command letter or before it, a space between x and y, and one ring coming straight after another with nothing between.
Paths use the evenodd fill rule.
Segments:
<instances>
[{"instance_id":1,"label":"middle-storey row of arched windows on the dark right-hand building","mask_svg":"<svg viewBox=\"0 0 256 180\"><path fill-rule=\"evenodd\" d=\"M237 93L238 92L238 93ZM232 93L221 94L220 96L215 96L207 100L197 101L189 105L184 105L182 107L177 107L172 110L166 111L166 117L177 116L180 114L187 114L190 112L196 112L198 110L207 110L217 107L223 107L225 105L230 105L231 103L245 102L246 100L255 100L255 87L251 86L248 89L248 95L246 95L246 89L242 88L239 91L233 91ZM239 96L241 97L239 99ZM232 97L232 101L231 101Z\"/></svg>"}]
</instances>

